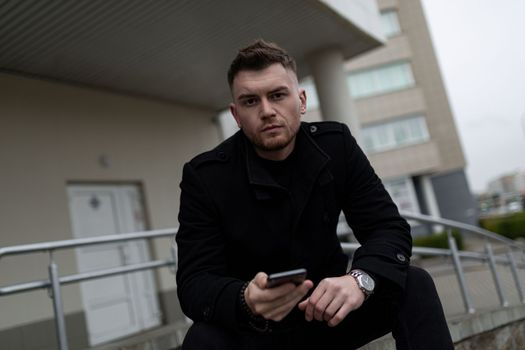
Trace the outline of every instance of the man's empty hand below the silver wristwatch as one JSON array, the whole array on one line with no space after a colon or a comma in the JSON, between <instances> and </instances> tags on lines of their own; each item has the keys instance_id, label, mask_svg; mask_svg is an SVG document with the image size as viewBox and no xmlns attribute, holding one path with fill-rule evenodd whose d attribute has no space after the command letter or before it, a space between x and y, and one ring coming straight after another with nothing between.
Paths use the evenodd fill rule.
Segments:
<instances>
[{"instance_id":1,"label":"man's empty hand below the silver wristwatch","mask_svg":"<svg viewBox=\"0 0 525 350\"><path fill-rule=\"evenodd\" d=\"M337 326L350 311L358 309L365 301L365 294L352 276L325 278L312 295L299 304L307 321L326 321Z\"/></svg>"}]
</instances>

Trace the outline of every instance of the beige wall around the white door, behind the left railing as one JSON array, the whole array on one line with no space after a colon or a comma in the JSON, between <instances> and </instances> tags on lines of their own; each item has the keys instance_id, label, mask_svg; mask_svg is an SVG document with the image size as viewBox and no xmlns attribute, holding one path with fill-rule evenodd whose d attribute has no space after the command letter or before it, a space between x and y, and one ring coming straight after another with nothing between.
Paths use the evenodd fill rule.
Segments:
<instances>
[{"instance_id":1,"label":"beige wall around the white door, behind the left railing","mask_svg":"<svg viewBox=\"0 0 525 350\"><path fill-rule=\"evenodd\" d=\"M177 225L181 167L219 139L213 111L0 74L0 247L72 238L71 181L140 182L150 228ZM105 155L109 167L98 158ZM154 254L166 256L169 240ZM0 285L45 279L44 254L0 260ZM60 274L76 272L72 252L57 254ZM159 274L162 289L173 275ZM65 286L66 312L81 309ZM52 317L40 290L0 298L0 329Z\"/></svg>"}]
</instances>

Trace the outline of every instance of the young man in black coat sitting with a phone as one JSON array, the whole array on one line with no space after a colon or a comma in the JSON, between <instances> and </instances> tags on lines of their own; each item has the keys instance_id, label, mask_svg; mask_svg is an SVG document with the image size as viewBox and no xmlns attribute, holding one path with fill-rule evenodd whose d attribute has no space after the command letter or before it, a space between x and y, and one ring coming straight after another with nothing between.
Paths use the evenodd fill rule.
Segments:
<instances>
[{"instance_id":1,"label":"young man in black coat sitting with a phone","mask_svg":"<svg viewBox=\"0 0 525 350\"><path fill-rule=\"evenodd\" d=\"M409 266L410 228L348 127L301 123L294 60L258 40L228 72L241 129L184 166L178 296L183 349L453 349L430 276ZM340 212L361 247L347 272ZM270 273L305 268L302 283Z\"/></svg>"}]
</instances>

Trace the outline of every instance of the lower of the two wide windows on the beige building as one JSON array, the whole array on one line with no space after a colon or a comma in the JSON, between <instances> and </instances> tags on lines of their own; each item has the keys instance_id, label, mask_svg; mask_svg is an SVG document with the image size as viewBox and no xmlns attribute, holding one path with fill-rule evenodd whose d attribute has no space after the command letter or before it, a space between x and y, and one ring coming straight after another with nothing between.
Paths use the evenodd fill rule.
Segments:
<instances>
[{"instance_id":1,"label":"lower of the two wide windows on the beige building","mask_svg":"<svg viewBox=\"0 0 525 350\"><path fill-rule=\"evenodd\" d=\"M362 130L362 137L363 148L367 153L386 151L426 142L430 139L423 116L365 126Z\"/></svg>"}]
</instances>

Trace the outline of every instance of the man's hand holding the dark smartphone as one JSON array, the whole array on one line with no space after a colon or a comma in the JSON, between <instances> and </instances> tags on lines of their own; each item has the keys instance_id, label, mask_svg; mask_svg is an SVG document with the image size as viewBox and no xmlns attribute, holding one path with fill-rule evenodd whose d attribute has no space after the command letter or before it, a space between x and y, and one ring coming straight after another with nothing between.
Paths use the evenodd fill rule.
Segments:
<instances>
[{"instance_id":1,"label":"man's hand holding the dark smartphone","mask_svg":"<svg viewBox=\"0 0 525 350\"><path fill-rule=\"evenodd\" d=\"M264 272L255 275L244 291L244 299L255 315L272 321L281 321L314 285L306 280L298 286L285 283L266 288L267 279L268 275Z\"/></svg>"}]
</instances>

